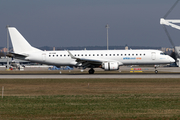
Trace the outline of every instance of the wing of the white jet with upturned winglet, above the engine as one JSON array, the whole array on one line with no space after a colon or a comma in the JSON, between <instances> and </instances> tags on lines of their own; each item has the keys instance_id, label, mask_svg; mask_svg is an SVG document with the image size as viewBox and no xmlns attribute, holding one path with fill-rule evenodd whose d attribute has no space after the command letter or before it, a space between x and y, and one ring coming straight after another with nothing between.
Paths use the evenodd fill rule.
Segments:
<instances>
[{"instance_id":1,"label":"wing of the white jet with upturned winglet, above the engine","mask_svg":"<svg viewBox=\"0 0 180 120\"><path fill-rule=\"evenodd\" d=\"M91 64L101 65L103 62L118 62L119 65L123 65L123 63L119 61L114 61L114 60L79 58L79 57L73 56L73 54L70 51L67 50L67 52L69 53L72 59L76 59L76 62L78 62L78 64L81 63L82 66L86 66L86 67Z\"/></svg>"}]
</instances>

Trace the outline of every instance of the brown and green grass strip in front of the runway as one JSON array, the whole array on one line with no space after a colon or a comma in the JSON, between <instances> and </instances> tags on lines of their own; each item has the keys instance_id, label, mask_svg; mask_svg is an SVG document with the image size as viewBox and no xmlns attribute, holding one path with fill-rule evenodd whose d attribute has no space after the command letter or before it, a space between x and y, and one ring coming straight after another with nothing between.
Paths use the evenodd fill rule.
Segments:
<instances>
[{"instance_id":1,"label":"brown and green grass strip in front of the runway","mask_svg":"<svg viewBox=\"0 0 180 120\"><path fill-rule=\"evenodd\" d=\"M179 119L180 79L0 79L0 119ZM1 92L1 91L0 91Z\"/></svg>"}]
</instances>

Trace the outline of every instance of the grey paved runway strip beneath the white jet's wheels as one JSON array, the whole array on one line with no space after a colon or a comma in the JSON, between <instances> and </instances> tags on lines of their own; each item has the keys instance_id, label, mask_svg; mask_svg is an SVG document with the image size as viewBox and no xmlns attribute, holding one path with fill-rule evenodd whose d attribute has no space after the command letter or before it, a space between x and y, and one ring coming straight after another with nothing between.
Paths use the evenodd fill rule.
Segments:
<instances>
[{"instance_id":1,"label":"grey paved runway strip beneath the white jet's wheels","mask_svg":"<svg viewBox=\"0 0 180 120\"><path fill-rule=\"evenodd\" d=\"M0 75L0 79L91 79L91 78L180 78L180 74L59 74L59 75Z\"/></svg>"}]
</instances>

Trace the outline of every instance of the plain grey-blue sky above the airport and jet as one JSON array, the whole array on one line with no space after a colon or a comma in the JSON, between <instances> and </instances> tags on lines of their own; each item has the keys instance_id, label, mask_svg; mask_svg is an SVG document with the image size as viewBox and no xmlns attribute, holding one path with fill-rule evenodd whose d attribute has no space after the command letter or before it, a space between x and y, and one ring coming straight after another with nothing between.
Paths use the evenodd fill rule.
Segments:
<instances>
[{"instance_id":1,"label":"plain grey-blue sky above the airport and jet","mask_svg":"<svg viewBox=\"0 0 180 120\"><path fill-rule=\"evenodd\" d=\"M176 0L0 0L0 47L6 25L16 27L34 47L172 47L160 18ZM167 17L180 18L180 2ZM180 45L180 31L167 27Z\"/></svg>"}]
</instances>

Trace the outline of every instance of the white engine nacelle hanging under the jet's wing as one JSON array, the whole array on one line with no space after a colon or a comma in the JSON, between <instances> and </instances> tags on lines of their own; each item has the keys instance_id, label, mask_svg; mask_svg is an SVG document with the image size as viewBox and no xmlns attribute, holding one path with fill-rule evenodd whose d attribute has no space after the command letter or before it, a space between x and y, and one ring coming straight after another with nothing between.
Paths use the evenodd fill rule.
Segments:
<instances>
[{"instance_id":1,"label":"white engine nacelle hanging under the jet's wing","mask_svg":"<svg viewBox=\"0 0 180 120\"><path fill-rule=\"evenodd\" d=\"M102 63L102 68L105 71L119 70L119 63L118 62L104 62Z\"/></svg>"}]
</instances>

